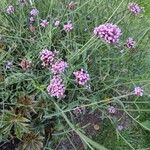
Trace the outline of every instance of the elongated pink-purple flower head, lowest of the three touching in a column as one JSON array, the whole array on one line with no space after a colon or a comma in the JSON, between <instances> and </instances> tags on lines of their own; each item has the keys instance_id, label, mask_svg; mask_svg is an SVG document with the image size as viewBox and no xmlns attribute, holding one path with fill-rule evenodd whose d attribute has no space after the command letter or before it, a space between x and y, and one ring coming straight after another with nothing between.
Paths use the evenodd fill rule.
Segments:
<instances>
[{"instance_id":1,"label":"elongated pink-purple flower head, lowest of the three touching in a column","mask_svg":"<svg viewBox=\"0 0 150 150\"><path fill-rule=\"evenodd\" d=\"M63 98L65 95L65 86L59 75L54 75L50 85L47 87L48 94L52 97Z\"/></svg>"}]
</instances>

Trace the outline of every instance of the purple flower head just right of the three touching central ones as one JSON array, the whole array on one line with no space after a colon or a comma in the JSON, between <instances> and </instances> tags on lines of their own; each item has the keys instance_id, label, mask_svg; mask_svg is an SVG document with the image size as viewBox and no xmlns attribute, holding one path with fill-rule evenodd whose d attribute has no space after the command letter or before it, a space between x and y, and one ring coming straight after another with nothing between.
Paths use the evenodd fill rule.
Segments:
<instances>
[{"instance_id":1,"label":"purple flower head just right of the three touching central ones","mask_svg":"<svg viewBox=\"0 0 150 150\"><path fill-rule=\"evenodd\" d=\"M76 82L80 85L86 85L87 82L90 80L89 74L83 69L75 71L73 74L76 78Z\"/></svg>"}]
</instances>

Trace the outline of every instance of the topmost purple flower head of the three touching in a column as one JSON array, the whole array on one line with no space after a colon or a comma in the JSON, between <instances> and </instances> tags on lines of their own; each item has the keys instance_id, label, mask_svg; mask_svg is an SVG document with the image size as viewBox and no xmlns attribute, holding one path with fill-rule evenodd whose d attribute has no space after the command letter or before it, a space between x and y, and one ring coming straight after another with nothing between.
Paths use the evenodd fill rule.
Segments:
<instances>
[{"instance_id":1,"label":"topmost purple flower head of the three touching in a column","mask_svg":"<svg viewBox=\"0 0 150 150\"><path fill-rule=\"evenodd\" d=\"M43 66L51 65L54 62L55 56L56 56L55 52L52 52L48 49L43 49L40 52L40 59L42 61L42 65Z\"/></svg>"}]
</instances>

